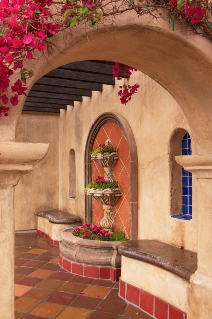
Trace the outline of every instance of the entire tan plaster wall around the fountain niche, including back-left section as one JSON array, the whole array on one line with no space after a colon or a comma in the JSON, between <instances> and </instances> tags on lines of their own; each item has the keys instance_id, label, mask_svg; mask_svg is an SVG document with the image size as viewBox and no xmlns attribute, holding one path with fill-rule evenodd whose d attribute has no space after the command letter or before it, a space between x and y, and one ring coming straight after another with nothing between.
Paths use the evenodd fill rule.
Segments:
<instances>
[{"instance_id":1,"label":"entire tan plaster wall around the fountain niche, including back-left section","mask_svg":"<svg viewBox=\"0 0 212 319\"><path fill-rule=\"evenodd\" d=\"M24 176L16 189L16 229L36 228L36 209L60 208L80 215L85 221L84 153L88 132L104 112L122 114L133 130L138 152L139 239L156 239L197 250L197 220L171 218L169 140L174 130L190 128L171 95L148 76L137 72L130 83L140 85L128 105L121 105L118 87L104 85L61 110L60 115L22 114L17 141L50 143L50 150L35 170ZM192 139L192 135L191 135ZM179 141L181 143L181 141ZM69 153L75 151L76 199L69 198ZM58 152L59 150L59 152ZM192 140L192 150L195 144ZM58 158L59 157L59 158ZM193 178L195 194L195 178ZM22 199L22 193L29 194ZM58 199L59 198L59 199ZM195 196L193 199L195 207Z\"/></svg>"}]
</instances>

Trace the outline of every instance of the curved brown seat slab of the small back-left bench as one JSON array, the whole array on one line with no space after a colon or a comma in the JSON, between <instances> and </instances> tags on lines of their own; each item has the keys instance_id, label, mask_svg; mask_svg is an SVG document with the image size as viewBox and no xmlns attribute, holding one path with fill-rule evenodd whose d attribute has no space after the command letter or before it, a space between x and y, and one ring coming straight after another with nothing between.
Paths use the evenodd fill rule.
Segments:
<instances>
[{"instance_id":1,"label":"curved brown seat slab of the small back-left bench","mask_svg":"<svg viewBox=\"0 0 212 319\"><path fill-rule=\"evenodd\" d=\"M61 211L59 209L48 211L36 211L35 215L38 217L44 217L53 224L75 224L81 223L81 217L75 215L69 211Z\"/></svg>"}]
</instances>

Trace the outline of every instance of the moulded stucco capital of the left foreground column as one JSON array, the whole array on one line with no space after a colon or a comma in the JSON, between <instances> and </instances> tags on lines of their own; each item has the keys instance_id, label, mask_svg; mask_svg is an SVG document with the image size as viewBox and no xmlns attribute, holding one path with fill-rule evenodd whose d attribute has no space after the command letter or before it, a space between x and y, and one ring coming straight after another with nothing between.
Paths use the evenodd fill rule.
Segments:
<instances>
[{"instance_id":1,"label":"moulded stucco capital of the left foreground column","mask_svg":"<svg viewBox=\"0 0 212 319\"><path fill-rule=\"evenodd\" d=\"M0 188L17 185L47 154L49 144L0 142Z\"/></svg>"}]
</instances>

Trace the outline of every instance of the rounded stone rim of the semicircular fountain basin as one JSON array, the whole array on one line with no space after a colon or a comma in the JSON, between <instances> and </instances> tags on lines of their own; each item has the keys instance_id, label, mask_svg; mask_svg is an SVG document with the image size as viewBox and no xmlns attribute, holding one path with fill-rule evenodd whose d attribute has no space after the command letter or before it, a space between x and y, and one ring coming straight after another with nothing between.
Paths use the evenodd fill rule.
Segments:
<instances>
[{"instance_id":1,"label":"rounded stone rim of the semicircular fountain basin","mask_svg":"<svg viewBox=\"0 0 212 319\"><path fill-rule=\"evenodd\" d=\"M74 236L72 233L69 232L63 232L61 233L61 237L63 240L67 242L71 242L72 244L79 245L79 246L85 246L85 247L97 247L97 248L113 248L118 250L118 247L120 246L122 241L95 241L90 239L83 239L79 238L77 236Z\"/></svg>"}]
</instances>

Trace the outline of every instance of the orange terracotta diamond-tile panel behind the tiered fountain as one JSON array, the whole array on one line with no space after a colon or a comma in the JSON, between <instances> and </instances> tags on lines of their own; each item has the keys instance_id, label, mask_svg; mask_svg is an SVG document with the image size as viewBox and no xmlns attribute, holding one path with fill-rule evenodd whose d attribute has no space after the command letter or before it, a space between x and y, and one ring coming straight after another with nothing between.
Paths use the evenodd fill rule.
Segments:
<instances>
[{"instance_id":1,"label":"orange terracotta diamond-tile panel behind the tiered fountain","mask_svg":"<svg viewBox=\"0 0 212 319\"><path fill-rule=\"evenodd\" d=\"M123 130L115 122L107 122L99 130L92 149L104 144L107 139L111 140L113 147L116 146L119 154L116 164L113 167L113 179L118 180L118 185L122 191L113 209L115 221L114 231L123 230L127 237L130 236L130 157L127 140ZM92 180L97 176L104 176L103 167L92 160ZM93 198L93 225L100 226L100 220L104 216L102 205Z\"/></svg>"}]
</instances>

